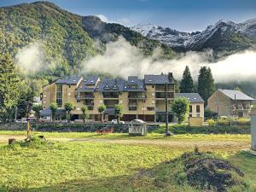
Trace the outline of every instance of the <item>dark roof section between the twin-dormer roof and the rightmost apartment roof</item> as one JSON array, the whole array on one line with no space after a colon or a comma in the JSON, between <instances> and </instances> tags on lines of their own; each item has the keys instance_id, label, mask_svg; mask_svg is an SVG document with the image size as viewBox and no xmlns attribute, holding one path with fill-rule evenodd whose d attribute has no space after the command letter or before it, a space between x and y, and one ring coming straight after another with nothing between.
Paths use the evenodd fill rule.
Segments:
<instances>
[{"instance_id":1,"label":"dark roof section between the twin-dormer roof and the rightmost apartment roof","mask_svg":"<svg viewBox=\"0 0 256 192\"><path fill-rule=\"evenodd\" d=\"M136 85L136 88L132 88L132 85ZM138 79L137 76L129 76L125 81L124 91L145 91L143 79Z\"/></svg>"}]
</instances>

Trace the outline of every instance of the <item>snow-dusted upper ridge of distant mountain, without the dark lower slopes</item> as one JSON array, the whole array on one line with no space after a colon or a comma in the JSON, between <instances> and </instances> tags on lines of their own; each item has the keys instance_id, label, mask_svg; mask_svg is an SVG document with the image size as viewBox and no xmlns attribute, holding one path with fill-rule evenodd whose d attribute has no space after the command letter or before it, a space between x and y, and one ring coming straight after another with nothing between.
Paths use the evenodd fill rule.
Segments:
<instances>
[{"instance_id":1,"label":"snow-dusted upper ridge of distant mountain, without the dark lower slopes","mask_svg":"<svg viewBox=\"0 0 256 192\"><path fill-rule=\"evenodd\" d=\"M142 23L131 27L131 30L140 32L147 38L159 40L161 43L168 44L173 48L199 49L198 46L204 46L203 44L207 44L207 41L212 38L216 40L216 38L225 37L225 35L231 37L231 34L238 32L256 40L256 19L247 20L240 24L218 20L217 23L207 26L201 32L179 32L169 27Z\"/></svg>"}]
</instances>

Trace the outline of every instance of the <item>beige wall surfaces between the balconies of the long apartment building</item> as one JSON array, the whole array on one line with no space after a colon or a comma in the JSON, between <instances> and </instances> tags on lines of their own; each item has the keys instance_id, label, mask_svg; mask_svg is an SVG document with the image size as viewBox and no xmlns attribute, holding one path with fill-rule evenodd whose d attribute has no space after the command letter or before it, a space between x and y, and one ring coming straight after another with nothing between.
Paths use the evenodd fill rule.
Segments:
<instances>
[{"instance_id":1,"label":"beige wall surfaces between the balconies of the long apartment building","mask_svg":"<svg viewBox=\"0 0 256 192\"><path fill-rule=\"evenodd\" d=\"M64 105L66 102L73 102L74 106L76 107L72 113L73 114L82 114L81 107L84 106L84 100L80 100L80 102L77 102L76 100L76 88L79 86L79 84L76 85L67 85L62 84L62 106L61 108L64 108ZM124 114L145 114L145 115L154 115L156 110L160 112L164 112L165 109L165 99L155 99L155 85L146 85L146 98L137 98L134 99L134 101L137 101L137 111L129 110L129 98L128 98L128 92L123 92L119 95L119 104L123 105L124 108ZM157 90L158 92L161 90ZM173 92L173 89L168 90L169 92ZM104 103L104 98L102 96L101 92L94 92L94 108L93 110L90 110L90 114L98 114L97 108L100 106L100 104ZM46 95L46 97L44 97ZM169 98L169 101L172 101L173 98ZM145 102L143 102L145 101ZM56 102L56 85L55 83L49 84L44 87L43 91L43 103L44 108L49 107L50 102ZM157 103L157 104L156 104ZM154 110L148 110L149 108L154 108Z\"/></svg>"}]
</instances>

